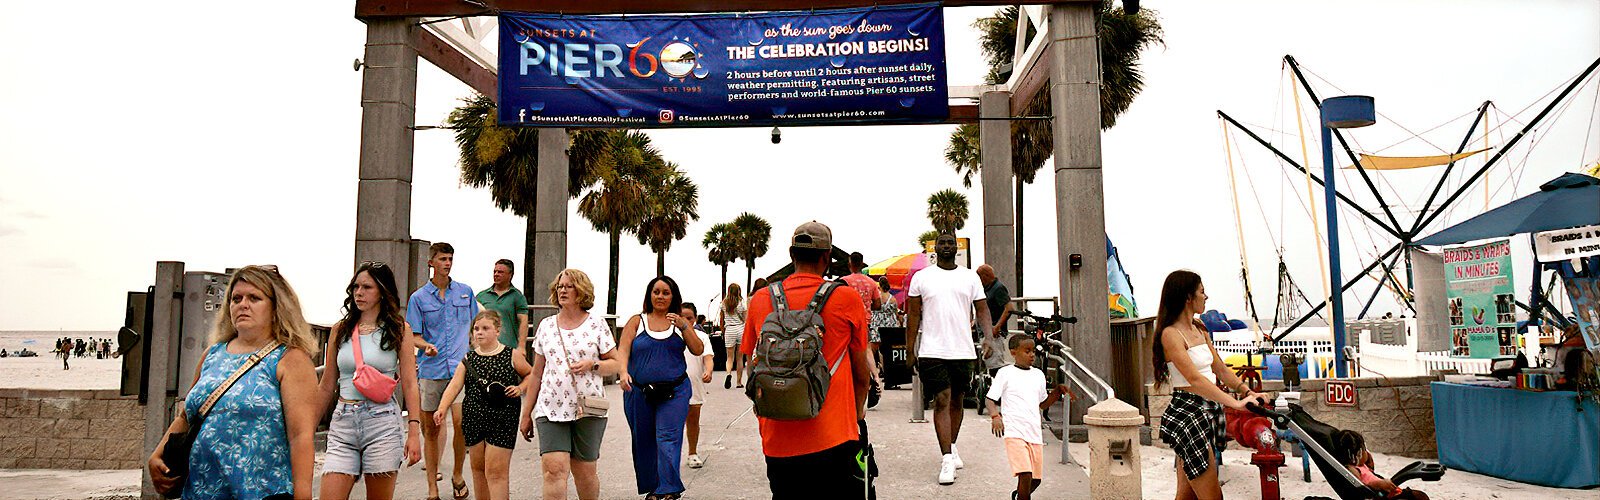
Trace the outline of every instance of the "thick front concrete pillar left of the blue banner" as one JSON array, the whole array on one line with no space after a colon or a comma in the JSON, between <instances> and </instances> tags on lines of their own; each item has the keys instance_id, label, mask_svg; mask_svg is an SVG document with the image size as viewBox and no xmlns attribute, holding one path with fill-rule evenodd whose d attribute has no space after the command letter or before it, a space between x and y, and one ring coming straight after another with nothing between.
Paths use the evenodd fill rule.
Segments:
<instances>
[{"instance_id":1,"label":"thick front concrete pillar left of the blue banner","mask_svg":"<svg viewBox=\"0 0 1600 500\"><path fill-rule=\"evenodd\" d=\"M416 119L413 19L366 19L362 59L362 155L355 197L355 264L384 261L395 285L421 280L411 266L411 125ZM426 258L426 256L424 256ZM422 274L421 279L427 279ZM410 293L400 293L403 303Z\"/></svg>"}]
</instances>

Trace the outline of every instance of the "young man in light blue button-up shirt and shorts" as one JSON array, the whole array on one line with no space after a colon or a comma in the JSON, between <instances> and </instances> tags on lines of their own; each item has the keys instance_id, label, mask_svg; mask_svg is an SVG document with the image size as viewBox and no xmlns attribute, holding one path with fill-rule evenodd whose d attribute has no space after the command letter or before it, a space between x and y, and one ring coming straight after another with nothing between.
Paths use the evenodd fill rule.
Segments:
<instances>
[{"instance_id":1,"label":"young man in light blue button-up shirt and shorts","mask_svg":"<svg viewBox=\"0 0 1600 500\"><path fill-rule=\"evenodd\" d=\"M411 293L405 308L405 321L411 324L421 356L416 357L418 388L422 396L422 444L424 468L427 476L427 497L438 497L438 458L445 452L442 441L450 434L450 428L429 425L434 412L440 410L440 397L450 386L450 378L456 375L456 365L467 354L467 335L472 330L472 316L478 314L478 303L472 300L472 287L450 279L450 268L456 260L456 248L450 244L434 244L427 248L427 266L434 269L434 277ZM462 391L464 394L466 391ZM462 465L467 457L467 441L461 434L461 397L450 402L450 421L456 431L451 441L456 468L450 474L456 497L462 497L467 482L462 478ZM440 436L445 433L445 436Z\"/></svg>"}]
</instances>

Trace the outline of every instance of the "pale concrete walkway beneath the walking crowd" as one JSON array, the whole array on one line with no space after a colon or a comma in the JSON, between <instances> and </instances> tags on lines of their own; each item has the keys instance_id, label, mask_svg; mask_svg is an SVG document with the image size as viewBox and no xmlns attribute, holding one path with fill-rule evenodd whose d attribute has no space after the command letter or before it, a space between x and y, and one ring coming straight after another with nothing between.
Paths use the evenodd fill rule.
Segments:
<instances>
[{"instance_id":1,"label":"pale concrete walkway beneath the walking crowd","mask_svg":"<svg viewBox=\"0 0 1600 500\"><path fill-rule=\"evenodd\" d=\"M699 470L683 470L683 482L688 486L688 498L770 498L766 487L766 466L762 458L760 438L755 418L749 412L749 399L742 389L723 389L722 373L714 380L710 401L706 404L704 428L701 433L701 455L707 463ZM627 421L621 417L621 391L608 388L608 397L614 402L618 417L608 421L606 436L600 457L600 494L602 498L640 498L635 494L632 454L629 450ZM930 498L1008 498L1016 487L998 438L989 434L989 420L966 410L962 426L962 458L966 468L958 471L952 486L936 482L939 466L939 447L933 438L931 423L910 423L910 391L888 391L883 402L867 412L867 423L878 452L882 476L877 481L878 498L885 500L930 500ZM1075 465L1056 463L1061 457L1061 442L1045 438L1045 484L1037 498L1090 498L1088 478ZM1088 460L1085 444L1070 446L1078 463ZM1144 498L1173 498L1174 471L1170 450L1157 447L1141 447ZM445 452L446 463L450 452ZM1379 470L1394 471L1411 458L1387 457L1374 454ZM318 465L320 465L318 454ZM541 481L538 463L538 442L517 442L512 455L512 498L539 498ZM136 498L139 481L144 471L61 471L61 470L0 470L0 498L96 498L122 500ZM1301 479L1299 460L1291 460L1283 470L1283 498L1304 498L1307 495L1333 497L1333 490L1322 482L1320 473L1312 473L1312 481ZM446 474L448 476L448 474ZM1229 498L1261 498L1258 471L1250 465L1250 452L1230 447L1222 460L1222 490ZM470 474L469 474L470 478ZM469 479L470 481L470 479ZM448 478L440 482L443 492L450 494ZM1445 481L1406 484L1426 490L1434 498L1469 500L1469 498L1502 498L1502 500L1534 500L1534 498L1587 498L1600 500L1600 489L1570 490L1550 489L1531 484L1520 484L1466 471L1450 471ZM422 466L406 468L400 473L397 498L424 498L427 487L422 478ZM354 497L365 494L357 486ZM568 486L568 498L576 498L576 492Z\"/></svg>"}]
</instances>

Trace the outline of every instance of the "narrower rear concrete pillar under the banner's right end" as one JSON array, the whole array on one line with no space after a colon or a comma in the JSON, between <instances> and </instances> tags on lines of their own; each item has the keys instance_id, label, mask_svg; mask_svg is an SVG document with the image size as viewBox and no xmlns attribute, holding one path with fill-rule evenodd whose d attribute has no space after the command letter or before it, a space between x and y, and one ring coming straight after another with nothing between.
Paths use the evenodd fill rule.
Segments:
<instances>
[{"instance_id":1,"label":"narrower rear concrete pillar under the banner's right end","mask_svg":"<svg viewBox=\"0 0 1600 500\"><path fill-rule=\"evenodd\" d=\"M979 181L984 188L984 263L1002 284L1016 285L1016 216L1011 207L1010 91L986 91L978 99L978 143L982 151ZM1011 290L1022 296L1022 290Z\"/></svg>"}]
</instances>

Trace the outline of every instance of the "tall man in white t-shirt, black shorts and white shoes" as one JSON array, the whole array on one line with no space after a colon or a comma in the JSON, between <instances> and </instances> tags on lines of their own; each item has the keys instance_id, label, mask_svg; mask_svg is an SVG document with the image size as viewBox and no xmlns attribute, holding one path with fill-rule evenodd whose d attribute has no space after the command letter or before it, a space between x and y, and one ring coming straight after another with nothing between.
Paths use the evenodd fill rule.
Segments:
<instances>
[{"instance_id":1,"label":"tall man in white t-shirt, black shorts and white shoes","mask_svg":"<svg viewBox=\"0 0 1600 500\"><path fill-rule=\"evenodd\" d=\"M978 272L955 264L955 234L933 242L934 266L912 274L906 295L906 361L917 370L922 396L933 399L933 431L939 439L939 484L955 482L962 457L962 397L973 386L973 312L982 335L994 337ZM918 402L922 404L922 402Z\"/></svg>"}]
</instances>

